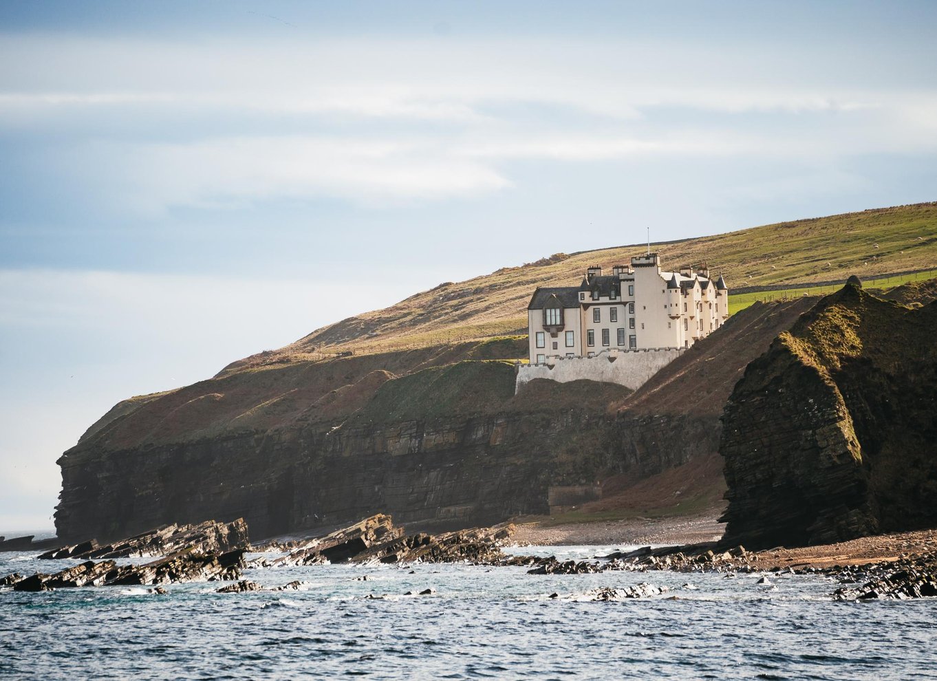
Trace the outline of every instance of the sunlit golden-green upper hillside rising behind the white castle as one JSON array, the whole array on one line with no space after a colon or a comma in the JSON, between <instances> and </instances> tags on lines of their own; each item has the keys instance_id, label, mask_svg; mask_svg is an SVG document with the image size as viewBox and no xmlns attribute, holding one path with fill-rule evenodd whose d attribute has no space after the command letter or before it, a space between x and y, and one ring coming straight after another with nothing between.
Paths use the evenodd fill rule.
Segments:
<instances>
[{"instance_id":1,"label":"sunlit golden-green upper hillside rising behind the white castle","mask_svg":"<svg viewBox=\"0 0 937 681\"><path fill-rule=\"evenodd\" d=\"M664 267L708 261L732 287L844 280L932 267L937 262L937 203L832 215L652 244ZM440 284L383 310L347 318L280 352L433 345L465 338L524 333L526 307L538 286L578 284L588 265L627 264L635 244L506 267L468 281ZM731 291L730 291L731 293Z\"/></svg>"}]
</instances>

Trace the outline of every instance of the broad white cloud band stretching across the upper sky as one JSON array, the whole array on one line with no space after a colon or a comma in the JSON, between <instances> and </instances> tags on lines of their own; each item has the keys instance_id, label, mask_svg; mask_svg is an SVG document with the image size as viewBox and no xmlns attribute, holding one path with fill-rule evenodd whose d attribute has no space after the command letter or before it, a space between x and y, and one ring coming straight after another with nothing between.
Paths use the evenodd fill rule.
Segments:
<instances>
[{"instance_id":1,"label":"broad white cloud band stretching across the upper sky","mask_svg":"<svg viewBox=\"0 0 937 681\"><path fill-rule=\"evenodd\" d=\"M848 64L830 49L666 37L7 36L0 129L58 131L46 135L54 181L129 215L478 198L512 187L506 162L522 159L937 149L926 81L894 85L879 55Z\"/></svg>"}]
</instances>

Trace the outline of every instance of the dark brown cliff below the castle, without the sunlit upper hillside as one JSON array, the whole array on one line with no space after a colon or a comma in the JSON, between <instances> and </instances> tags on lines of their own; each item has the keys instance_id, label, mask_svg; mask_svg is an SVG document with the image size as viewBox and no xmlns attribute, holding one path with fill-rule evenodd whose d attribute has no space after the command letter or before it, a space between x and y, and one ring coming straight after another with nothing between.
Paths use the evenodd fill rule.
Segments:
<instances>
[{"instance_id":1,"label":"dark brown cliff below the castle, without the sunlit upper hillside","mask_svg":"<svg viewBox=\"0 0 937 681\"><path fill-rule=\"evenodd\" d=\"M376 511L427 528L490 525L549 511L554 486L610 481L614 497L715 457L729 387L808 307L752 306L633 395L535 380L515 396L499 359L521 354L523 338L236 363L89 428L59 460L56 527L108 540L244 517L257 539ZM718 470L706 485L721 492Z\"/></svg>"}]
</instances>

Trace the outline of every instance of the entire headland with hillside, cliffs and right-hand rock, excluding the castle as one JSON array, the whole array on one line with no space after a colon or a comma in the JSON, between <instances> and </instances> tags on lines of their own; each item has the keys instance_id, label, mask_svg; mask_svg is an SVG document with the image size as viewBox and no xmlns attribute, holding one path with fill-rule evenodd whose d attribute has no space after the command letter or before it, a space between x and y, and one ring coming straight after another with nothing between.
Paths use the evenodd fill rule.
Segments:
<instances>
[{"instance_id":1,"label":"entire headland with hillside, cliffs and right-hand rock, excluding the castle","mask_svg":"<svg viewBox=\"0 0 937 681\"><path fill-rule=\"evenodd\" d=\"M531 291L642 246L440 284L113 407L59 460L60 541L206 518L264 538L375 513L434 534L513 520L565 543L724 528L720 546L749 550L937 526L937 286L869 286L934 267L937 204L659 249L706 259L730 289L840 284L738 304L635 392L534 380L516 395Z\"/></svg>"}]
</instances>

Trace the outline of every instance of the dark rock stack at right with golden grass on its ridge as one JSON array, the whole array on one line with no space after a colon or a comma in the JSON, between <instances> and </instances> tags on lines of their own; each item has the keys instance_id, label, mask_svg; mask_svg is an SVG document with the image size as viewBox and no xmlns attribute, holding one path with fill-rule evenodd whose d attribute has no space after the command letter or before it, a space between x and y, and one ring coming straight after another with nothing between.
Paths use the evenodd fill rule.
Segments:
<instances>
[{"instance_id":1,"label":"dark rock stack at right with golden grass on its ridge","mask_svg":"<svg viewBox=\"0 0 937 681\"><path fill-rule=\"evenodd\" d=\"M847 285L749 364L722 417L725 540L848 540L937 523L937 303Z\"/></svg>"}]
</instances>

